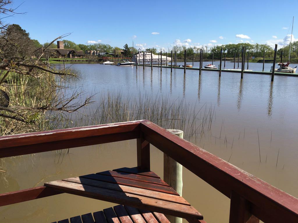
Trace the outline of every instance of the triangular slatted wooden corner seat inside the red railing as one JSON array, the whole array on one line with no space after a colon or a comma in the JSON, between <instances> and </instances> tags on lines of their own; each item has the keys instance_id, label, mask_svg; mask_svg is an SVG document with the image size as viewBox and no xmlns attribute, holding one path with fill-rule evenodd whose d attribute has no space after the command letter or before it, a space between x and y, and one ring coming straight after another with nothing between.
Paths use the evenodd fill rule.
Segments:
<instances>
[{"instance_id":1,"label":"triangular slatted wooden corner seat inside the red railing","mask_svg":"<svg viewBox=\"0 0 298 223\"><path fill-rule=\"evenodd\" d=\"M125 171L125 172L123 172ZM136 167L45 183L58 192L129 205L181 218L203 219L183 197L152 171Z\"/></svg>"}]
</instances>

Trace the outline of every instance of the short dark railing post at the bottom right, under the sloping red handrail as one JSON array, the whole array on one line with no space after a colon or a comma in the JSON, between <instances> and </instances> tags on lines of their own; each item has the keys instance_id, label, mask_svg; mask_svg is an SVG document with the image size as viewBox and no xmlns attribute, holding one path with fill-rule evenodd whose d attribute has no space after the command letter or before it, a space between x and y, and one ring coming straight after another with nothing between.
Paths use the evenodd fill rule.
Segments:
<instances>
[{"instance_id":1,"label":"short dark railing post at the bottom right, under the sloping red handrail","mask_svg":"<svg viewBox=\"0 0 298 223\"><path fill-rule=\"evenodd\" d=\"M250 203L236 192L231 192L229 223L259 223L260 220L250 213Z\"/></svg>"}]
</instances>

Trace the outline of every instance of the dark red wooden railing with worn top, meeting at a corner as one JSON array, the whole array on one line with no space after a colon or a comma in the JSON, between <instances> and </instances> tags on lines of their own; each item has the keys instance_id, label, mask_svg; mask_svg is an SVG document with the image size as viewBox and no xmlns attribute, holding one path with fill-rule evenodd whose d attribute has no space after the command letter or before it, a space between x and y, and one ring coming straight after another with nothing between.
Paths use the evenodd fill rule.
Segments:
<instances>
[{"instance_id":1,"label":"dark red wooden railing with worn top, meeting at a corner","mask_svg":"<svg viewBox=\"0 0 298 223\"><path fill-rule=\"evenodd\" d=\"M2 136L0 158L129 139L137 139L137 164L144 170L150 169L152 144L229 197L230 223L298 222L297 198L148 120ZM0 206L55 194L44 186L8 192L0 194Z\"/></svg>"}]
</instances>

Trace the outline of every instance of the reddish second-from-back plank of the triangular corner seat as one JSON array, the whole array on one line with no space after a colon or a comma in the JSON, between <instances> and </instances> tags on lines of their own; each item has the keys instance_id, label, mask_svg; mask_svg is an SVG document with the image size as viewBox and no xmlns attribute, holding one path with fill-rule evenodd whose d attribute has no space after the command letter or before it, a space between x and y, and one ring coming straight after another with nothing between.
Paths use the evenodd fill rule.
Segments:
<instances>
[{"instance_id":1,"label":"reddish second-from-back plank of the triangular corner seat","mask_svg":"<svg viewBox=\"0 0 298 223\"><path fill-rule=\"evenodd\" d=\"M164 186L169 186L166 182L164 182L160 178L141 176L141 175L136 175L136 174L131 174L131 173L123 173L123 172L108 170L108 171L98 172L96 174L106 175L106 176L111 176L111 177L124 178L124 179L130 179L130 180L136 180L136 181L142 181L142 182L147 182L147 183L155 183L155 184L164 185Z\"/></svg>"}]
</instances>

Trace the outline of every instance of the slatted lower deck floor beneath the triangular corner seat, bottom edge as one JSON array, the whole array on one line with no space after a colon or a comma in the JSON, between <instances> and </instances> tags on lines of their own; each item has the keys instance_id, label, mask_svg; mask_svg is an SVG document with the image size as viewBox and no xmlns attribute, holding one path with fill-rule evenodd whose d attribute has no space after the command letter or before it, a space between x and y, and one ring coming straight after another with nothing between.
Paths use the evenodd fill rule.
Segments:
<instances>
[{"instance_id":1,"label":"slatted lower deck floor beneath the triangular corner seat, bottom edge","mask_svg":"<svg viewBox=\"0 0 298 223\"><path fill-rule=\"evenodd\" d=\"M170 223L162 213L145 211L130 206L117 205L103 211L87 213L58 223ZM57 222L52 222L57 223Z\"/></svg>"}]
</instances>

